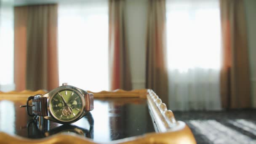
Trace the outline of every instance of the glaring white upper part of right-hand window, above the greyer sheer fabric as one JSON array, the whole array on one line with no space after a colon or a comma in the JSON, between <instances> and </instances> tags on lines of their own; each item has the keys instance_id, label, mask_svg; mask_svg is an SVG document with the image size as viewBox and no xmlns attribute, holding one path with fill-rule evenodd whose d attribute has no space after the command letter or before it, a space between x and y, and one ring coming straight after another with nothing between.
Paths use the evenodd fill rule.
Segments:
<instances>
[{"instance_id":1,"label":"glaring white upper part of right-hand window, above the greyer sheer fabric","mask_svg":"<svg viewBox=\"0 0 256 144\"><path fill-rule=\"evenodd\" d=\"M166 9L169 69L219 69L218 0L168 0Z\"/></svg>"}]
</instances>

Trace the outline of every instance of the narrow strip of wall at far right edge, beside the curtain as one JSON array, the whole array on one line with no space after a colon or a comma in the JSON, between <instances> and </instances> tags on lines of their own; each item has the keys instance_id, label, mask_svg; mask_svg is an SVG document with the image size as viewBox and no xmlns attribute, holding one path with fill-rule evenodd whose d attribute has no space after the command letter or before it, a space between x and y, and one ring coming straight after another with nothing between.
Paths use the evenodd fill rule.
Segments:
<instances>
[{"instance_id":1,"label":"narrow strip of wall at far right edge, beside the curtain","mask_svg":"<svg viewBox=\"0 0 256 144\"><path fill-rule=\"evenodd\" d=\"M256 0L245 0L245 13L251 72L251 95L253 107L256 107Z\"/></svg>"}]
</instances>

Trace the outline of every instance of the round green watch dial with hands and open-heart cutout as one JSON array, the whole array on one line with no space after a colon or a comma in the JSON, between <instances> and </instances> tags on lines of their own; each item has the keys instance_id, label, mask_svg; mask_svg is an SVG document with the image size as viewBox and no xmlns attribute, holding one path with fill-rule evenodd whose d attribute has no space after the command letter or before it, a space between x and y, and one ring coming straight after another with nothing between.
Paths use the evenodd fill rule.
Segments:
<instances>
[{"instance_id":1,"label":"round green watch dial with hands and open-heart cutout","mask_svg":"<svg viewBox=\"0 0 256 144\"><path fill-rule=\"evenodd\" d=\"M72 90L63 90L56 93L50 102L52 115L63 121L72 121L83 110L81 97Z\"/></svg>"}]
</instances>

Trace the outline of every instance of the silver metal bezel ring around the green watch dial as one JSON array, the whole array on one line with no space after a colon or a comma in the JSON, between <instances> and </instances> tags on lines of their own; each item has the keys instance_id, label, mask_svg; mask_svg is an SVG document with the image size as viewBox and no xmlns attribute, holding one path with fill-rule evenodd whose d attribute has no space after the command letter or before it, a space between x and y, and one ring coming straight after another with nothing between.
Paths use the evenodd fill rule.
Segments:
<instances>
[{"instance_id":1,"label":"silver metal bezel ring around the green watch dial","mask_svg":"<svg viewBox=\"0 0 256 144\"><path fill-rule=\"evenodd\" d=\"M77 114L77 117L73 120L61 120L53 114L52 109L51 109L51 101L52 101L53 96L55 96L59 91L64 91L64 90L75 91L82 99L83 109ZM75 121L77 121L81 118L81 115L83 115L83 113L85 111L85 98L83 96L83 93L84 92L82 90L80 90L79 88L76 88L74 86L71 86L71 85L60 86L58 88L55 88L53 91L46 93L44 96L49 97L48 102L47 102L48 113L51 115L51 117L53 117L56 120L57 123L61 123L61 124L74 123Z\"/></svg>"}]
</instances>

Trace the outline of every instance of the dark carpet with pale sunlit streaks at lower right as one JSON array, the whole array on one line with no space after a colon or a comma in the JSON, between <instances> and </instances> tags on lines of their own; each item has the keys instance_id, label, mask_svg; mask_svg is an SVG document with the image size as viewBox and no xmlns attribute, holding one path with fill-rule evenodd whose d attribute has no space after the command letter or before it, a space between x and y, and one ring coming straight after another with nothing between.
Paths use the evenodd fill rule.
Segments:
<instances>
[{"instance_id":1,"label":"dark carpet with pale sunlit streaks at lower right","mask_svg":"<svg viewBox=\"0 0 256 144\"><path fill-rule=\"evenodd\" d=\"M256 109L173 113L189 125L197 144L256 144Z\"/></svg>"}]
</instances>

